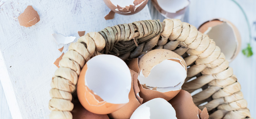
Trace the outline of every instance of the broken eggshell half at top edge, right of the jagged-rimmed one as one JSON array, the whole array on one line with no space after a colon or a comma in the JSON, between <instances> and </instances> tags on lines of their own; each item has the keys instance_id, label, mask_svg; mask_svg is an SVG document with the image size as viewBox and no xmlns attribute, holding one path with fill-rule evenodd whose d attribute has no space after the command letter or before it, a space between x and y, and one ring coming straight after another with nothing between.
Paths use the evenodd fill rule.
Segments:
<instances>
[{"instance_id":1,"label":"broken eggshell half at top edge, right of the jagged-rimmed one","mask_svg":"<svg viewBox=\"0 0 256 119\"><path fill-rule=\"evenodd\" d=\"M181 19L189 5L188 0L152 0L152 3L162 16L170 19Z\"/></svg>"}]
</instances>

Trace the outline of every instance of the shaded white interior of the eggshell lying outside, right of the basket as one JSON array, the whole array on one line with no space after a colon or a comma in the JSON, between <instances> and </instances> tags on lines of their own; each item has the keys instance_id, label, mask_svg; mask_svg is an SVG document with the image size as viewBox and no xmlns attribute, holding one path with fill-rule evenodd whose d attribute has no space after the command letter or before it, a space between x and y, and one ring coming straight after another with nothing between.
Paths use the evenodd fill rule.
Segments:
<instances>
[{"instance_id":1,"label":"shaded white interior of the eggshell lying outside, right of the basket","mask_svg":"<svg viewBox=\"0 0 256 119\"><path fill-rule=\"evenodd\" d=\"M209 35L215 41L216 46L221 48L227 60L233 57L237 48L237 38L234 30L228 23L223 22L214 27L209 27L204 33Z\"/></svg>"}]
</instances>

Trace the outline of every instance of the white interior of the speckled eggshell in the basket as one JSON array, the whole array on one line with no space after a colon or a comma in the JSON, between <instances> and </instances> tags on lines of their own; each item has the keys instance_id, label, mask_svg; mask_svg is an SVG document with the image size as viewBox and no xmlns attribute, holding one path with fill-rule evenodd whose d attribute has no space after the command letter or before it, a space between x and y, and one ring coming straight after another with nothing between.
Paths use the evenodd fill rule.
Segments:
<instances>
[{"instance_id":1,"label":"white interior of the speckled eggshell in the basket","mask_svg":"<svg viewBox=\"0 0 256 119\"><path fill-rule=\"evenodd\" d=\"M164 60L151 69L147 78L144 77L141 70L138 80L140 84L157 87L157 91L166 92L181 89L186 77L186 69L180 63Z\"/></svg>"}]
</instances>

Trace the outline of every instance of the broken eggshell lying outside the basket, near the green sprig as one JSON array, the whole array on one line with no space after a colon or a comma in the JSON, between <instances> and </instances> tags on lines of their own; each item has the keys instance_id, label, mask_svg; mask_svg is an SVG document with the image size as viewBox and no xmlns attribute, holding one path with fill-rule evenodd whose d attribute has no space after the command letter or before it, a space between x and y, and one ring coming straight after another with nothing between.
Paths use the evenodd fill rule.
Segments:
<instances>
[{"instance_id":1,"label":"broken eggshell lying outside the basket, near the green sprig","mask_svg":"<svg viewBox=\"0 0 256 119\"><path fill-rule=\"evenodd\" d=\"M241 36L236 26L230 21L226 19L209 20L204 22L198 31L213 39L229 62L240 52Z\"/></svg>"}]
</instances>

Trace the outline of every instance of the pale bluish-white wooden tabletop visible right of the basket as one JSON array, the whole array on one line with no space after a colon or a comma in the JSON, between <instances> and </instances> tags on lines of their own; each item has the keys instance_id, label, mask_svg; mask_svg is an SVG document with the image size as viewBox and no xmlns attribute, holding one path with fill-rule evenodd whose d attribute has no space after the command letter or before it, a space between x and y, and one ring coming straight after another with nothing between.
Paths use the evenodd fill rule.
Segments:
<instances>
[{"instance_id":1,"label":"pale bluish-white wooden tabletop visible right of the basket","mask_svg":"<svg viewBox=\"0 0 256 119\"><path fill-rule=\"evenodd\" d=\"M249 33L245 17L239 7L231 0L190 0L191 3L186 11L184 22L188 22L195 27L199 27L203 22L213 18L225 18L231 21L239 30L242 38L242 49L249 42ZM256 0L236 0L247 14L250 26L256 22ZM148 3L152 19L165 19ZM252 34L256 36L256 29L253 27ZM250 58L245 57L242 52L229 64L233 68L234 74L241 84L241 91L244 99L247 100L248 108L251 111L252 117L256 117L256 42L253 39L251 46L253 47L254 55Z\"/></svg>"}]
</instances>

